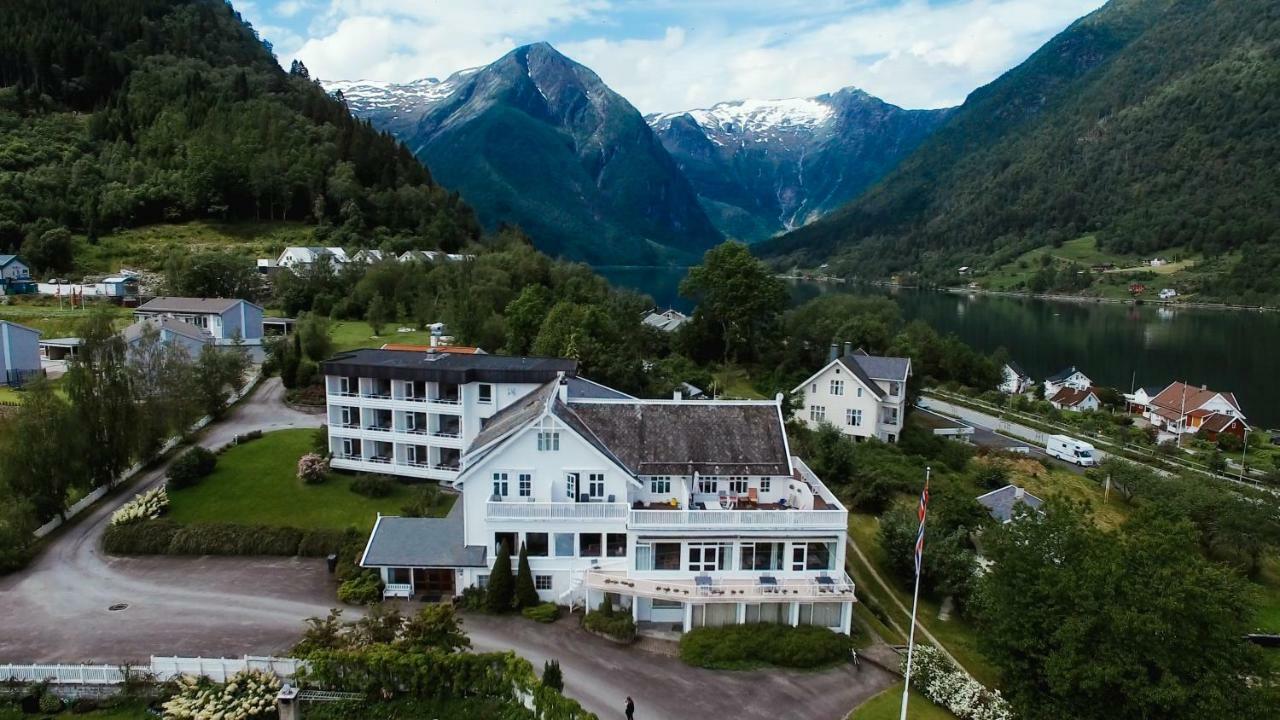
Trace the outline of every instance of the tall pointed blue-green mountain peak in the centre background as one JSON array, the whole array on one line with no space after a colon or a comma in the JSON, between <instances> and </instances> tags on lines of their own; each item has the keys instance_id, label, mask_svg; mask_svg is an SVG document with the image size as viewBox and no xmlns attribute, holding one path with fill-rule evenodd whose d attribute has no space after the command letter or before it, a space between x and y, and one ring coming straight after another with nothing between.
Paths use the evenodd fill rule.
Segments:
<instances>
[{"instance_id":1,"label":"tall pointed blue-green mountain peak in the centre background","mask_svg":"<svg viewBox=\"0 0 1280 720\"><path fill-rule=\"evenodd\" d=\"M552 255L686 263L721 241L640 113L590 69L536 44L460 74L447 96L424 97L412 128L387 120L398 100L351 108L394 131L486 225L518 224Z\"/></svg>"}]
</instances>

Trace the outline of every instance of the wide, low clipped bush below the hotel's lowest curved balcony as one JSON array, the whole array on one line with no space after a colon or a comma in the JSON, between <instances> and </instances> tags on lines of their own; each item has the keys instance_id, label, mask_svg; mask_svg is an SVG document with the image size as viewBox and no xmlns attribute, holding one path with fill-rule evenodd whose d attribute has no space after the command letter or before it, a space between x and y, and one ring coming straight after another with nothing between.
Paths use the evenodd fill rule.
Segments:
<instances>
[{"instance_id":1,"label":"wide, low clipped bush below the hotel's lowest curved balcony","mask_svg":"<svg viewBox=\"0 0 1280 720\"><path fill-rule=\"evenodd\" d=\"M746 670L762 665L823 667L849 660L847 635L814 625L695 628L680 638L680 659L696 667Z\"/></svg>"}]
</instances>

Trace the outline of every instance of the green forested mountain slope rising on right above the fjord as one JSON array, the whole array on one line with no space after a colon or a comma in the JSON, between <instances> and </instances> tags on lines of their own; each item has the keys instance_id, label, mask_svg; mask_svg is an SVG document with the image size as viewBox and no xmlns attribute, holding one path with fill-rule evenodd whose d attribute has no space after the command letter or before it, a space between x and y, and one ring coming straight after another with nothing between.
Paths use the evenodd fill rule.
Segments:
<instances>
[{"instance_id":1,"label":"green forested mountain slope rising on right above the fjord","mask_svg":"<svg viewBox=\"0 0 1280 720\"><path fill-rule=\"evenodd\" d=\"M1276 291L1277 127L1280 4L1112 0L974 91L852 204L759 251L943 278L1094 234L1139 256L1243 251L1224 282Z\"/></svg>"}]
</instances>

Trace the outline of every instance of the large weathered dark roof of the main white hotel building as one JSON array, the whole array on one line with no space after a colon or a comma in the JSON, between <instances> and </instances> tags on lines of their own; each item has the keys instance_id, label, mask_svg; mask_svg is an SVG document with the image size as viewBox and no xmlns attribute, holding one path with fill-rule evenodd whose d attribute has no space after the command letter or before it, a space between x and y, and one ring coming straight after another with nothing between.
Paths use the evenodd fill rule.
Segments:
<instances>
[{"instance_id":1,"label":"large weathered dark roof of the main white hotel building","mask_svg":"<svg viewBox=\"0 0 1280 720\"><path fill-rule=\"evenodd\" d=\"M786 475L772 402L559 402L557 418L634 475Z\"/></svg>"}]
</instances>

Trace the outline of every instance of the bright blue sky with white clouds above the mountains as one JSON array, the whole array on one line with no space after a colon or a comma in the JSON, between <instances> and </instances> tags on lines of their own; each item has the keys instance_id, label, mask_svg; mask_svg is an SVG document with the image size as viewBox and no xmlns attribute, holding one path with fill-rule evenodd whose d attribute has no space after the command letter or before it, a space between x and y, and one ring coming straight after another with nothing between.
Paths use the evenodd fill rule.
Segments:
<instances>
[{"instance_id":1,"label":"bright blue sky with white clouds above the mountains","mask_svg":"<svg viewBox=\"0 0 1280 720\"><path fill-rule=\"evenodd\" d=\"M232 0L280 64L408 82L547 41L641 113L854 86L959 105L1102 0Z\"/></svg>"}]
</instances>

